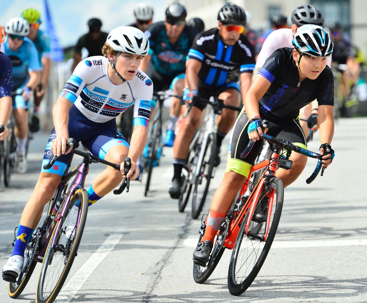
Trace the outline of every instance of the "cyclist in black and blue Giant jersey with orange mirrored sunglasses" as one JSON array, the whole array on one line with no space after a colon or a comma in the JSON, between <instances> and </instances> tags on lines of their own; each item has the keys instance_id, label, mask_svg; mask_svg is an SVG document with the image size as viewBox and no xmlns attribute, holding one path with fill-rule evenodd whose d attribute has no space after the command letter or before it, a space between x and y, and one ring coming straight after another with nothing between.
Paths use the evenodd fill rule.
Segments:
<instances>
[{"instance_id":1,"label":"cyclist in black and blue Giant jersey with orange mirrored sunglasses","mask_svg":"<svg viewBox=\"0 0 367 303\"><path fill-rule=\"evenodd\" d=\"M211 96L225 100L225 104L238 106L251 84L255 67L254 49L241 35L246 25L243 8L229 3L218 13L218 27L204 31L195 37L189 51L186 68L187 104L192 104L188 117L183 118L174 143L174 176L170 185L171 198L178 199L181 192L181 171L185 163L190 139L200 126L206 104L195 102L198 96ZM241 88L237 81L241 80ZM186 111L186 106L182 107ZM235 111L225 109L217 125L217 154L214 165L219 164L219 149L224 136L236 120Z\"/></svg>"}]
</instances>

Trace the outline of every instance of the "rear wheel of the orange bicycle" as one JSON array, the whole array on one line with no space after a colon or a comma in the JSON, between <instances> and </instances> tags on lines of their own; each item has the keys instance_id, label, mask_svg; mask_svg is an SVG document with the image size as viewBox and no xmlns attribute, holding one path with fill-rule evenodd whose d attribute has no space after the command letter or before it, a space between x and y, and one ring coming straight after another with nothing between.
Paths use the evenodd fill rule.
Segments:
<instances>
[{"instance_id":1,"label":"rear wheel of the orange bicycle","mask_svg":"<svg viewBox=\"0 0 367 303\"><path fill-rule=\"evenodd\" d=\"M227 235L228 224L229 221L224 221L221 226L219 235L215 236L214 238L215 244L210 253L208 266L203 267L194 263L192 274L196 283L203 284L206 280L208 280L210 275L214 272L214 269L217 267L219 260L222 258L225 250L224 246L222 246L222 242L224 242L225 236ZM200 235L198 243L200 242L201 238L202 236Z\"/></svg>"}]
</instances>

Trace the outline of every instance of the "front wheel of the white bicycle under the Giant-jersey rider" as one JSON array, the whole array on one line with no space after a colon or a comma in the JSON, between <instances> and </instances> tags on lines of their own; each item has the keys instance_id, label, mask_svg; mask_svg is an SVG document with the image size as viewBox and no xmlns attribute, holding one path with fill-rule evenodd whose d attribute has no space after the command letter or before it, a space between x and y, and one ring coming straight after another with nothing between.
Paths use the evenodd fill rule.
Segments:
<instances>
[{"instance_id":1,"label":"front wheel of the white bicycle under the Giant-jersey rider","mask_svg":"<svg viewBox=\"0 0 367 303\"><path fill-rule=\"evenodd\" d=\"M200 176L197 176L196 178L196 182L195 182L195 186L194 186L194 190L192 194L191 217L193 219L197 219L197 217L199 217L200 212L203 209L206 196L208 194L210 180L212 178L212 171L214 167L214 157L215 157L216 145L217 145L217 137L214 133L211 133L208 137L208 141L205 146L203 163L201 164L201 168L200 168ZM207 161L205 161L205 157L207 156L207 151L209 151L210 154L209 154L209 158L207 158ZM199 153L200 153L200 150L199 150ZM202 175L204 175L205 178ZM199 185L201 185L203 181L204 182L206 181L203 195L201 195L201 198L198 199L198 188L199 188ZM200 201L199 203L197 203L198 200Z\"/></svg>"}]
</instances>

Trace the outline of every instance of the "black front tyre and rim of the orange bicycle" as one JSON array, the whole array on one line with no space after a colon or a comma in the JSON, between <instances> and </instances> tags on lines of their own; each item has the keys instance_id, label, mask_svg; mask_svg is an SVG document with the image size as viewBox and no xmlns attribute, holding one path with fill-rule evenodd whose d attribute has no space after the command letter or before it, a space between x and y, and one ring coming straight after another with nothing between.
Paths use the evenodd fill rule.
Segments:
<instances>
[{"instance_id":1,"label":"black front tyre and rim of the orange bicycle","mask_svg":"<svg viewBox=\"0 0 367 303\"><path fill-rule=\"evenodd\" d=\"M247 220L248 213L246 214L244 221L240 227L240 231L237 235L236 243L232 251L232 256L230 259L229 269L228 269L228 289L229 289L229 292L232 293L232 295L239 296L244 291L246 291L248 287L250 287L251 283L255 280L257 274L259 273L261 266L264 264L265 258L269 253L270 247L275 237L275 233L278 228L279 221L280 221L280 215L281 215L281 209L283 207L283 197L284 197L283 183L281 182L281 180L278 177L272 177L269 180L269 183L266 184L266 187L262 189L262 197L264 197L265 194L269 192L270 190L274 190L276 197L274 197L274 203L273 203L273 208L271 212L273 217L270 219L269 233L268 233L268 238L266 239L266 242L259 240L259 239L254 239L250 235L246 235L244 228L246 226L245 222ZM260 204L259 201L260 199L252 203L257 203L256 207L258 207ZM268 214L269 214L269 211L268 211ZM258 226L258 224L260 223L256 223L251 220L251 225L249 226L249 233L251 233L252 229L255 229ZM258 236L264 235L266 225L268 224L269 224L269 218L266 219L265 224L262 224L264 226L261 228L262 230L258 233ZM252 242L254 240L255 242ZM248 249L252 249L253 250L252 253L254 253L254 254L244 253L243 255L247 256L245 260L244 260L244 257L242 258L240 257L241 252L242 252L240 248L243 242L244 242L244 250L246 250L246 244L248 244ZM256 252L255 250L257 247L259 248ZM250 260L251 262L248 262L248 263L251 263L251 264L249 265L250 268L249 268L249 272L247 273L247 268L245 268L244 265L245 263L247 264L247 260L250 257L251 257L251 260ZM252 262L252 259L254 257L257 259L255 259L255 261ZM236 273L237 260L241 260L240 263L241 262L245 262L245 263L238 264L239 270ZM252 269L251 269L251 266L252 266ZM244 274L242 274L243 270L245 270ZM236 276L240 271L242 272L241 274L238 275L238 277L243 277L244 280L238 283Z\"/></svg>"}]
</instances>

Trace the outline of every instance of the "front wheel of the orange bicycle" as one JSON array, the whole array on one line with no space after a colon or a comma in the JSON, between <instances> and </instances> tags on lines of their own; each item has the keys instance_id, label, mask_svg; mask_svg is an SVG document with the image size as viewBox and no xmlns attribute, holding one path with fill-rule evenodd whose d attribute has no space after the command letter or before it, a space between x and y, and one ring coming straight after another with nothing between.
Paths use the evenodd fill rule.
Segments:
<instances>
[{"instance_id":1,"label":"front wheel of the orange bicycle","mask_svg":"<svg viewBox=\"0 0 367 303\"><path fill-rule=\"evenodd\" d=\"M262 189L258 201L252 202L256 203L254 214L260 213L260 208L267 207L266 220L259 222L254 215L246 232L249 213L247 212L241 224L228 269L228 289L232 295L239 296L246 291L264 264L278 228L283 207L283 193L283 183L279 178L273 177Z\"/></svg>"}]
</instances>

